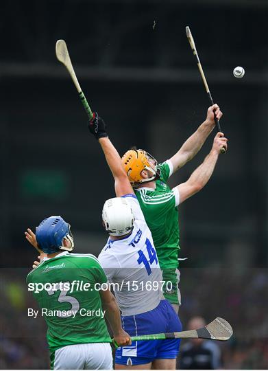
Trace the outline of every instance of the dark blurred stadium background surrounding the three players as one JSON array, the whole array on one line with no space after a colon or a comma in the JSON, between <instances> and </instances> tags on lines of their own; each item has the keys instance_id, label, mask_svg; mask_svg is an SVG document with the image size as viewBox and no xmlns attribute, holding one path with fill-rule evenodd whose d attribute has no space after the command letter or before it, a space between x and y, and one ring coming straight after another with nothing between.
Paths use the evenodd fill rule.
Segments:
<instances>
[{"instance_id":1,"label":"dark blurred stadium background surrounding the three players","mask_svg":"<svg viewBox=\"0 0 268 371\"><path fill-rule=\"evenodd\" d=\"M114 195L86 114L55 56L64 38L90 105L123 154L171 157L204 121L208 98L189 25L229 139L212 179L180 207L180 317L225 317L224 368L268 368L268 2L261 0L1 1L0 368L47 368L45 324L25 275L24 239L51 214L70 221L77 252L98 254L101 208ZM154 26L155 23L155 26ZM242 80L232 76L245 68ZM215 134L215 132L214 132ZM213 135L214 135L213 134ZM171 179L186 181L212 145Z\"/></svg>"}]
</instances>

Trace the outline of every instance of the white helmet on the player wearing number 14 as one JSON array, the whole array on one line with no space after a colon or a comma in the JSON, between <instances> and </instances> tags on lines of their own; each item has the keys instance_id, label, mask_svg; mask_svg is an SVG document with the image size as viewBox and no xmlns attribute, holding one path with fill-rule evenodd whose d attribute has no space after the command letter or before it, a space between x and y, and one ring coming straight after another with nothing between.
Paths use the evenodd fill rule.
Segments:
<instances>
[{"instance_id":1,"label":"white helmet on the player wearing number 14","mask_svg":"<svg viewBox=\"0 0 268 371\"><path fill-rule=\"evenodd\" d=\"M130 203L124 197L108 199L103 205L102 220L106 231L111 236L123 236L129 233L134 224Z\"/></svg>"}]
</instances>

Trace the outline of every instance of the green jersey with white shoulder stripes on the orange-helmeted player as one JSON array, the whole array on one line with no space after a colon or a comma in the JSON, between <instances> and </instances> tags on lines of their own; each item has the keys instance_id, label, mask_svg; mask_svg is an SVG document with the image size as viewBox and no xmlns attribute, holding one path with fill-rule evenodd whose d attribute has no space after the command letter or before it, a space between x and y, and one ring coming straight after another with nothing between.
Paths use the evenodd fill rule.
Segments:
<instances>
[{"instance_id":1,"label":"green jersey with white shoulder stripes on the orange-helmeted player","mask_svg":"<svg viewBox=\"0 0 268 371\"><path fill-rule=\"evenodd\" d=\"M156 189L135 190L146 223L151 230L161 269L178 267L180 232L178 225L178 190L167 186L167 179L172 174L170 161L159 164L160 179L156 180Z\"/></svg>"}]
</instances>

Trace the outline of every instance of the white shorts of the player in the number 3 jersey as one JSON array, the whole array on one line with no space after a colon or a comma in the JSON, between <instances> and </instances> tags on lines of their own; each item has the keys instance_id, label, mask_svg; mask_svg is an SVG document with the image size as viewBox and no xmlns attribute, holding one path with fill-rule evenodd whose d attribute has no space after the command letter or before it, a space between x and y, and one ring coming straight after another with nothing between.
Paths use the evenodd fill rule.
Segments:
<instances>
[{"instance_id":1,"label":"white shorts of the player in the number 3 jersey","mask_svg":"<svg viewBox=\"0 0 268 371\"><path fill-rule=\"evenodd\" d=\"M110 343L73 344L57 349L54 355L53 370L112 370Z\"/></svg>"}]
</instances>

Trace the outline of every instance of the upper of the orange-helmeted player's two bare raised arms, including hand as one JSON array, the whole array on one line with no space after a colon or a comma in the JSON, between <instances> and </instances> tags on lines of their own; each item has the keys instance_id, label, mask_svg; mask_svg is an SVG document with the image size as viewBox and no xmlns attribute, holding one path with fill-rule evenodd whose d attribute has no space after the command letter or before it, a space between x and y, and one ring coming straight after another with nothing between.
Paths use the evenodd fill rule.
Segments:
<instances>
[{"instance_id":1,"label":"upper of the orange-helmeted player's two bare raised arms, including hand","mask_svg":"<svg viewBox=\"0 0 268 371\"><path fill-rule=\"evenodd\" d=\"M213 104L213 106L210 106L208 108L207 117L203 124L201 124L199 128L197 128L197 131L195 131L195 133L193 133L191 137L188 137L186 142L182 144L180 150L178 150L178 152L175 153L173 157L171 157L170 161L173 165L173 172L175 172L179 168L182 168L182 166L184 166L186 162L193 159L200 148L202 148L204 142L206 141L206 138L208 137L208 135L210 135L215 126L214 110L217 119L220 120L223 113L221 112L217 104Z\"/></svg>"}]
</instances>

